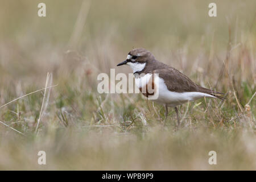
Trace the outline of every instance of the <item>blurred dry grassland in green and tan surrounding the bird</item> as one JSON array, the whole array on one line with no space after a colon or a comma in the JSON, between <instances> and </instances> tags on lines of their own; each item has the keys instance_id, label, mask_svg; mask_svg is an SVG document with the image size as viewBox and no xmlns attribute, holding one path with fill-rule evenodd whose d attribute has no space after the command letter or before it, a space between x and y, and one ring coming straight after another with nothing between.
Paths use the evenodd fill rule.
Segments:
<instances>
[{"instance_id":1,"label":"blurred dry grassland in green and tan surrounding the bird","mask_svg":"<svg viewBox=\"0 0 256 182\"><path fill-rule=\"evenodd\" d=\"M0 169L256 169L256 1L214 1L214 18L212 1L46 0L39 18L40 2L0 1L0 106L48 72L57 84L0 107ZM99 94L98 73L135 47L226 100L180 106L177 130L140 94Z\"/></svg>"}]
</instances>

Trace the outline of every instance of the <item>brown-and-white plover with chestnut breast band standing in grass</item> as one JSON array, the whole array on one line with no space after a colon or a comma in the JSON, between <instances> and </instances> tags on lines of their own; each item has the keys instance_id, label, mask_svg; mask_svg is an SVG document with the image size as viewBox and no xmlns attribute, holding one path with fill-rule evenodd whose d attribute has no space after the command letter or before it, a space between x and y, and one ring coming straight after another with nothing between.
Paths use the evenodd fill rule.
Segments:
<instances>
[{"instance_id":1,"label":"brown-and-white plover with chestnut breast band standing in grass","mask_svg":"<svg viewBox=\"0 0 256 182\"><path fill-rule=\"evenodd\" d=\"M168 107L175 108L178 126L180 125L180 120L177 105L184 104L188 101L195 101L202 97L224 99L224 97L217 95L223 93L195 84L183 73L177 71L177 69L156 60L154 55L144 48L131 50L127 55L127 59L117 66L125 64L133 69L135 84L138 86L139 90L142 92L142 88L146 86L146 92L142 92L144 96L150 99L156 94L156 92L148 93L147 87L149 83L152 84L152 89L158 90L158 96L155 97L153 101L165 106L166 118L168 115Z\"/></svg>"}]
</instances>

